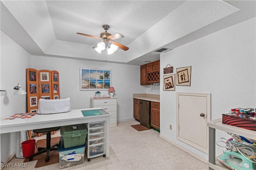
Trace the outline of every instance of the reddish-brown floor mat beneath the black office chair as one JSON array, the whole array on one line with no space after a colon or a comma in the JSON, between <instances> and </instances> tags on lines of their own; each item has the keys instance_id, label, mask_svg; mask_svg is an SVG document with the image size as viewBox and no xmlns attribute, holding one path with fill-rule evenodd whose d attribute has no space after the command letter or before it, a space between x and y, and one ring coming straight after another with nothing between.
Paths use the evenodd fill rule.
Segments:
<instances>
[{"instance_id":1,"label":"reddish-brown floor mat beneath the black office chair","mask_svg":"<svg viewBox=\"0 0 256 170\"><path fill-rule=\"evenodd\" d=\"M55 138L51 138L51 146L59 143L60 141L60 137L55 137ZM46 139L41 139L41 140L37 140L36 141L36 145L37 147L46 147ZM35 153L37 152L37 149L35 147ZM33 157L32 161L36 160L36 165L34 166L35 168L40 168L43 166L48 166L51 164L57 164L59 163L59 152L58 150L53 150L50 152L50 160L48 162L45 162L45 158L46 158L46 152L39 154L37 156ZM28 158L26 158L23 162L28 162Z\"/></svg>"}]
</instances>

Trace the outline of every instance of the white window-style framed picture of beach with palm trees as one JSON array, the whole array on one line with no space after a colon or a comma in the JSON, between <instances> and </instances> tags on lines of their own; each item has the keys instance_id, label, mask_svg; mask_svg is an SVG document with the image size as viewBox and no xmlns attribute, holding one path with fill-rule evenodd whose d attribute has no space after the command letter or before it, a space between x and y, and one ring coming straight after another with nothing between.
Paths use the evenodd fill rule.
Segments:
<instances>
[{"instance_id":1,"label":"white window-style framed picture of beach with palm trees","mask_svg":"<svg viewBox=\"0 0 256 170\"><path fill-rule=\"evenodd\" d=\"M81 90L108 90L112 86L112 70L80 68Z\"/></svg>"}]
</instances>

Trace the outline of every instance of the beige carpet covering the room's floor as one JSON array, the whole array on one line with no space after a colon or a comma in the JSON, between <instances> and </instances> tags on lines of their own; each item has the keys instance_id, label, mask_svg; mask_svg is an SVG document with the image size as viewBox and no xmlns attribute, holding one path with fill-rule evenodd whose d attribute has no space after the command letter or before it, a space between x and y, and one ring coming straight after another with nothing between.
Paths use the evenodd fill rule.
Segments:
<instances>
[{"instance_id":1,"label":"beige carpet covering the room's floor","mask_svg":"<svg viewBox=\"0 0 256 170\"><path fill-rule=\"evenodd\" d=\"M134 124L140 122L118 122L117 127L110 127L109 158L99 156L88 162L85 156L83 164L63 170L208 170L206 163L163 140L156 130L138 132L131 127ZM9 163L22 163L23 160L14 158ZM35 164L36 161L31 161L27 162L26 168L6 167L4 170L34 170ZM59 169L59 164L36 168Z\"/></svg>"}]
</instances>

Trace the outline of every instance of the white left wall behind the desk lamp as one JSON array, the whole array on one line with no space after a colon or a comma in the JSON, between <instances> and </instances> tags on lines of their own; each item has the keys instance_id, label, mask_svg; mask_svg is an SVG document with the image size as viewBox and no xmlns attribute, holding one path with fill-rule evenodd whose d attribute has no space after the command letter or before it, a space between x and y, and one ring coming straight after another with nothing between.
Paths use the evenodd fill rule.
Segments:
<instances>
[{"instance_id":1,"label":"white left wall behind the desk lamp","mask_svg":"<svg viewBox=\"0 0 256 170\"><path fill-rule=\"evenodd\" d=\"M0 88L13 88L18 83L26 91L26 68L31 55L1 31ZM26 95L14 96L14 90L0 92L0 118L26 112ZM22 135L24 137L24 135ZM23 141L24 139L22 139ZM15 133L1 134L1 161L15 152Z\"/></svg>"}]
</instances>

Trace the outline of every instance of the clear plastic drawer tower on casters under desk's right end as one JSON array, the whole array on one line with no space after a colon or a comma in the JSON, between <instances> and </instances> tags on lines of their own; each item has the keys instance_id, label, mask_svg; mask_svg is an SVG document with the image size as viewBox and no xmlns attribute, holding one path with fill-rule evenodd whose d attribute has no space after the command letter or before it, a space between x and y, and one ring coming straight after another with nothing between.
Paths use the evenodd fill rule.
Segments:
<instances>
[{"instance_id":1,"label":"clear plastic drawer tower on casters under desk's right end","mask_svg":"<svg viewBox=\"0 0 256 170\"><path fill-rule=\"evenodd\" d=\"M86 125L88 134L86 136L86 154L90 158L103 155L105 157L106 122L93 122Z\"/></svg>"}]
</instances>

